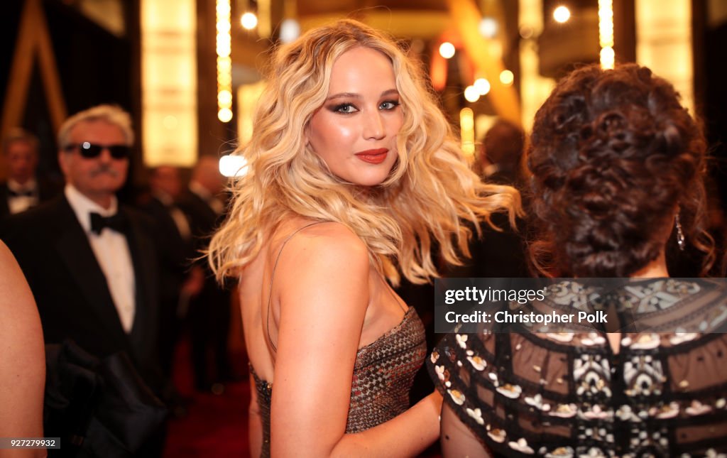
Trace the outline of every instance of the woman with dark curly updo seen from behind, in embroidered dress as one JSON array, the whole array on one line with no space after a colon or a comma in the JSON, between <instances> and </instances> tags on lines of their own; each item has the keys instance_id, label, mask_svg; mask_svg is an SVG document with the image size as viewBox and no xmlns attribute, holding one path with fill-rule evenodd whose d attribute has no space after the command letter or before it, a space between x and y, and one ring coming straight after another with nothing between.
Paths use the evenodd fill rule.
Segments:
<instances>
[{"instance_id":1,"label":"woman with dark curly updo seen from behind, in embroidered dress","mask_svg":"<svg viewBox=\"0 0 727 458\"><path fill-rule=\"evenodd\" d=\"M726 289L670 279L665 261L670 244L701 252L703 272L714 260L705 150L648 68L589 66L555 87L529 151L541 229L531 258L545 276L574 278L550 286L566 301L531 304L596 303L609 326L445 337L428 363L445 399L445 457L725 456ZM585 280L602 277L625 286Z\"/></svg>"}]
</instances>

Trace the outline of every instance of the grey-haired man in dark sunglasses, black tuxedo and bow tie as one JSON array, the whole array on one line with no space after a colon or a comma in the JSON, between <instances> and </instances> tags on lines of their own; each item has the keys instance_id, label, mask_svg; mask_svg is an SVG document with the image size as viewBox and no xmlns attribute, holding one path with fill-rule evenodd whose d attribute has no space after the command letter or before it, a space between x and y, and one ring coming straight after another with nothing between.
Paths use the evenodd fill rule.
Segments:
<instances>
[{"instance_id":1,"label":"grey-haired man in dark sunglasses, black tuxedo and bow tie","mask_svg":"<svg viewBox=\"0 0 727 458\"><path fill-rule=\"evenodd\" d=\"M119 107L68 118L58 133L63 194L11 217L3 238L28 278L46 343L71 339L99 358L123 351L159 394L156 244L147 217L116 199L133 142Z\"/></svg>"}]
</instances>

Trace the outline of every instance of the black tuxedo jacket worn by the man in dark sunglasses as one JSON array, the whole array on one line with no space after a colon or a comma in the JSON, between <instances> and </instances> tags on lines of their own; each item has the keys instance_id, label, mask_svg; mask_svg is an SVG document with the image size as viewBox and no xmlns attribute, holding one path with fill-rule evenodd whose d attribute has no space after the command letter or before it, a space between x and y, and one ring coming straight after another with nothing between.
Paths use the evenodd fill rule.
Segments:
<instances>
[{"instance_id":1,"label":"black tuxedo jacket worn by the man in dark sunglasses","mask_svg":"<svg viewBox=\"0 0 727 458\"><path fill-rule=\"evenodd\" d=\"M145 216L119 206L129 219L126 239L136 280L136 314L126 334L103 270L65 196L9 217L2 228L31 286L46 343L72 339L100 358L125 351L158 393L158 257Z\"/></svg>"}]
</instances>

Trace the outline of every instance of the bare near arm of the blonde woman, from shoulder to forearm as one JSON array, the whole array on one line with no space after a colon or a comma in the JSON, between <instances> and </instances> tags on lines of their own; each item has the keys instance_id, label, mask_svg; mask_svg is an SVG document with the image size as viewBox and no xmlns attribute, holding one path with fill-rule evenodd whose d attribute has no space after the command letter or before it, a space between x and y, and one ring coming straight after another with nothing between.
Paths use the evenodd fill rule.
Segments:
<instances>
[{"instance_id":1,"label":"bare near arm of the blonde woman, from shoulder to forearm","mask_svg":"<svg viewBox=\"0 0 727 458\"><path fill-rule=\"evenodd\" d=\"M311 228L286 246L276 278L281 312L273 456L413 456L433 443L439 433L438 394L389 422L345 434L369 301L369 255L363 242L341 225Z\"/></svg>"}]
</instances>

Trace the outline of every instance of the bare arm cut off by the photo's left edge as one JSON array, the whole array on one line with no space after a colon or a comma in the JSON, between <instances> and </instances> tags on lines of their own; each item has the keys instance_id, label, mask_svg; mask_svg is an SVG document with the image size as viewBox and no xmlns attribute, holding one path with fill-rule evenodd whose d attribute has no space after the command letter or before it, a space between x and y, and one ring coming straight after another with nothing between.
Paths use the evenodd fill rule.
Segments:
<instances>
[{"instance_id":1,"label":"bare arm cut off by the photo's left edge","mask_svg":"<svg viewBox=\"0 0 727 458\"><path fill-rule=\"evenodd\" d=\"M43 437L43 330L23 272L1 241L0 317L0 438ZM0 449L2 458L45 455Z\"/></svg>"}]
</instances>

